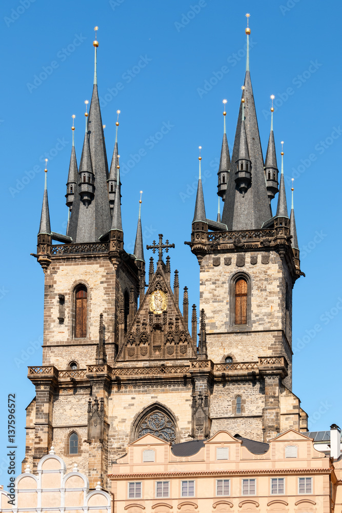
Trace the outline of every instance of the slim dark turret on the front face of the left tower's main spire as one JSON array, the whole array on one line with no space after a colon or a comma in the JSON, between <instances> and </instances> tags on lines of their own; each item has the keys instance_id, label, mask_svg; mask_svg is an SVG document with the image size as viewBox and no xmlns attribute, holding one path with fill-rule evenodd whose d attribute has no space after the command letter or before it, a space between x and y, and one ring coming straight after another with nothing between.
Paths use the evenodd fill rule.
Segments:
<instances>
[{"instance_id":1,"label":"slim dark turret on the front face of the left tower's main spire","mask_svg":"<svg viewBox=\"0 0 342 513\"><path fill-rule=\"evenodd\" d=\"M89 204L94 199L95 192L95 176L93 172L93 166L91 162L90 156L90 146L89 146L89 133L88 133L88 113L87 113L87 105L88 100L85 101L86 104L86 133L84 135L83 142L83 150L81 155L81 162L79 163L79 195L81 196L81 200L83 204L88 208Z\"/></svg>"}]
</instances>

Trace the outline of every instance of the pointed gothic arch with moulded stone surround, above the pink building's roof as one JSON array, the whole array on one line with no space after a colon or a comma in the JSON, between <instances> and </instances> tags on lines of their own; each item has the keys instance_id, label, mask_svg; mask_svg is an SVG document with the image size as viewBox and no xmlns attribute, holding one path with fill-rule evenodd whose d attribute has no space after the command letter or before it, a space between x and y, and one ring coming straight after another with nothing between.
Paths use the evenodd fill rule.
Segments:
<instances>
[{"instance_id":1,"label":"pointed gothic arch with moulded stone surround, above the pink building's roof","mask_svg":"<svg viewBox=\"0 0 342 513\"><path fill-rule=\"evenodd\" d=\"M165 442L177 443L179 431L174 413L157 402L140 410L132 422L131 442L147 433Z\"/></svg>"}]
</instances>

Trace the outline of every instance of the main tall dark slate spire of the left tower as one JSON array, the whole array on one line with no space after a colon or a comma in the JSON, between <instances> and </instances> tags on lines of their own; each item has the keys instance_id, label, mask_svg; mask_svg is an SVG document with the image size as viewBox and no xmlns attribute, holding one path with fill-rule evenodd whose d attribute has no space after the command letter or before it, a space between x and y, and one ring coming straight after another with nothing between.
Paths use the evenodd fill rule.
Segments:
<instances>
[{"instance_id":1,"label":"main tall dark slate spire of the left tower","mask_svg":"<svg viewBox=\"0 0 342 513\"><path fill-rule=\"evenodd\" d=\"M95 27L95 32L98 27ZM71 218L69 223L69 233L73 243L80 242L98 242L100 237L110 231L111 213L108 199L108 162L105 146L105 137L103 133L103 124L99 99L97 93L97 48L98 41L95 37L93 42L95 48L94 59L94 85L91 98L91 104L88 116L88 140L89 153L94 176L93 198L90 202L82 200L81 195L75 194ZM85 149L85 145L84 145ZM86 148L87 149L87 148ZM88 149L87 149L88 160ZM81 168L81 164L80 164ZM80 173L78 173L80 176ZM78 183L78 192L82 192L85 186Z\"/></svg>"}]
</instances>

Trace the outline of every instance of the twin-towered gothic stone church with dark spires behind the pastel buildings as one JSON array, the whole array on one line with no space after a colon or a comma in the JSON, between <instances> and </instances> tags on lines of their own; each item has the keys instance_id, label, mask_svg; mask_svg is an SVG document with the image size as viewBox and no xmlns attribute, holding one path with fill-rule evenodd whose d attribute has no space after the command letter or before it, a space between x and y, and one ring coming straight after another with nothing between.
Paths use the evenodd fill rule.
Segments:
<instances>
[{"instance_id":1,"label":"twin-towered gothic stone church with dark spires behind the pastel buildings","mask_svg":"<svg viewBox=\"0 0 342 513\"><path fill-rule=\"evenodd\" d=\"M109 166L94 46L79 166L74 144L71 152L66 235L51 230L45 181L34 254L45 277L43 362L29 367L36 396L23 468L35 470L54 446L68 470L77 459L90 489L100 482L109 490L113 462L147 434L176 444L222 430L259 442L307 431L292 392L292 290L303 273L284 154L279 180L273 123L263 159L248 58L231 158L224 130L216 221L206 217L199 160L186 242L200 266L198 311L193 305L189 314L186 287L179 297L172 245L161 234L146 268L140 210L134 254L125 251L117 132Z\"/></svg>"}]
</instances>

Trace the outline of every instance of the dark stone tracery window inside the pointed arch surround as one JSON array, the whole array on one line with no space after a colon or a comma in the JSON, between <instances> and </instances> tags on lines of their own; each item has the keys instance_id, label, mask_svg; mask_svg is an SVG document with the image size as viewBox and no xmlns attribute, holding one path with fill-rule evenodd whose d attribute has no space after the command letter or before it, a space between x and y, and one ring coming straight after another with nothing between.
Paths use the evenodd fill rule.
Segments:
<instances>
[{"instance_id":1,"label":"dark stone tracery window inside the pointed arch surround","mask_svg":"<svg viewBox=\"0 0 342 513\"><path fill-rule=\"evenodd\" d=\"M171 415L167 415L162 409L155 408L149 410L145 416L137 423L133 437L135 439L143 437L150 433L165 442L176 442L176 426Z\"/></svg>"}]
</instances>

